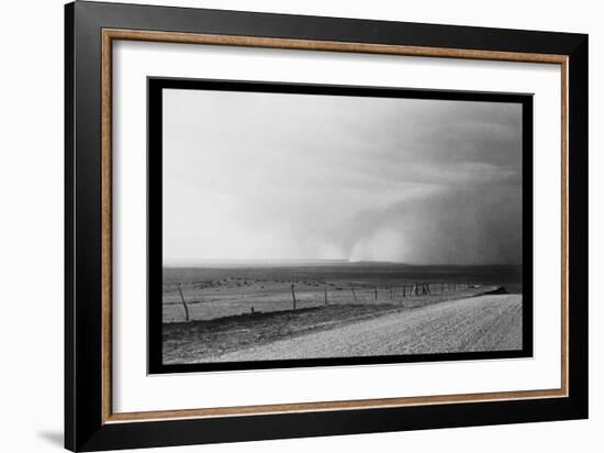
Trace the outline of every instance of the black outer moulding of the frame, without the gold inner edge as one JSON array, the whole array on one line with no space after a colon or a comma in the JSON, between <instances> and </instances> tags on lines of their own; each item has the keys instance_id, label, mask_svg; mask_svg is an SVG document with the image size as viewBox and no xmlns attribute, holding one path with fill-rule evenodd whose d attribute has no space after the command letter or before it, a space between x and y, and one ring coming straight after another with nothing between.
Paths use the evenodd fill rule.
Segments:
<instances>
[{"instance_id":1,"label":"black outer moulding of the frame, without the gold inner edge","mask_svg":"<svg viewBox=\"0 0 604 453\"><path fill-rule=\"evenodd\" d=\"M103 423L101 29L557 54L569 57L569 397ZM65 8L65 446L99 451L588 417L588 36L75 2Z\"/></svg>"}]
</instances>

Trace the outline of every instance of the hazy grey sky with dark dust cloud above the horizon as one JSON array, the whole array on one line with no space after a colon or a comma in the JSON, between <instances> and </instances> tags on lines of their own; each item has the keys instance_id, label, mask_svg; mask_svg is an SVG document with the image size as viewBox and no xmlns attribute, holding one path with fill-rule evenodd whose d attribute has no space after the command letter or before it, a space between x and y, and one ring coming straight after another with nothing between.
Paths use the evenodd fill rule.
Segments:
<instances>
[{"instance_id":1,"label":"hazy grey sky with dark dust cloud above the horizon","mask_svg":"<svg viewBox=\"0 0 604 453\"><path fill-rule=\"evenodd\" d=\"M522 107L164 90L164 263L522 261Z\"/></svg>"}]
</instances>

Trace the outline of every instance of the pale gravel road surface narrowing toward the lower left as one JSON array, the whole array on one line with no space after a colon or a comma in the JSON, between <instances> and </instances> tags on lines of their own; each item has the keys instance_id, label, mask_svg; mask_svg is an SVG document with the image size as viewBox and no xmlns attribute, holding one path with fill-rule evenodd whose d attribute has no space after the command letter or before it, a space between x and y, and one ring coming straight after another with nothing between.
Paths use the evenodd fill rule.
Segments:
<instances>
[{"instance_id":1,"label":"pale gravel road surface narrowing toward the lower left","mask_svg":"<svg viewBox=\"0 0 604 453\"><path fill-rule=\"evenodd\" d=\"M480 296L385 314L214 356L209 362L522 349L522 296Z\"/></svg>"}]
</instances>

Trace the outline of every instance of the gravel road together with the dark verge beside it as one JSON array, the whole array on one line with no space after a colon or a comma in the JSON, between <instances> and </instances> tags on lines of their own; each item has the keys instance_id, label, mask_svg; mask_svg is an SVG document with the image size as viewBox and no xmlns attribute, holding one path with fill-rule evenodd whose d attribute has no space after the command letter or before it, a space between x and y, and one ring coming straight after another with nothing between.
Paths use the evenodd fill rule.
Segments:
<instances>
[{"instance_id":1,"label":"gravel road together with the dark verge beside it","mask_svg":"<svg viewBox=\"0 0 604 453\"><path fill-rule=\"evenodd\" d=\"M522 296L402 308L333 306L165 330L165 363L433 354L522 349ZM244 319L247 318L247 319ZM221 345L222 349L217 349Z\"/></svg>"}]
</instances>

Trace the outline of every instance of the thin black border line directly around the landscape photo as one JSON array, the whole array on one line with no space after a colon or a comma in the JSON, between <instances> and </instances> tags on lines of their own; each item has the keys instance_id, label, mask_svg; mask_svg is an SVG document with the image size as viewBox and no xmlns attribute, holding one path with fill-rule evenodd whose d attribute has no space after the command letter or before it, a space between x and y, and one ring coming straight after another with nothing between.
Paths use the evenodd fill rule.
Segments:
<instances>
[{"instance_id":1,"label":"thin black border line directly around the landscape photo","mask_svg":"<svg viewBox=\"0 0 604 453\"><path fill-rule=\"evenodd\" d=\"M407 354L371 357L304 358L170 365L163 364L161 95L163 90L166 88L521 103L523 108L523 349L517 351ZM519 358L533 356L533 95L147 77L147 372L149 374Z\"/></svg>"}]
</instances>

